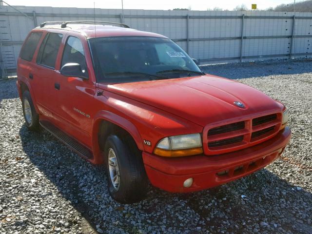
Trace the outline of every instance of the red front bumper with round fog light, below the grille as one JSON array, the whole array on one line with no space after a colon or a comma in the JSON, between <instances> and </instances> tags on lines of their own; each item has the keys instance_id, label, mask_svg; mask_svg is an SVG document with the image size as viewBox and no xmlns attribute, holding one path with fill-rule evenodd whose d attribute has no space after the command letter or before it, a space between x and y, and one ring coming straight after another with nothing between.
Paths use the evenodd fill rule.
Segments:
<instances>
[{"instance_id":1,"label":"red front bumper with round fog light, below the grille","mask_svg":"<svg viewBox=\"0 0 312 234\"><path fill-rule=\"evenodd\" d=\"M215 156L166 158L142 153L151 183L172 193L188 193L212 188L258 171L280 156L290 141L291 130L286 127L275 137L243 150ZM223 175L220 175L222 172ZM193 178L190 188L183 182Z\"/></svg>"}]
</instances>

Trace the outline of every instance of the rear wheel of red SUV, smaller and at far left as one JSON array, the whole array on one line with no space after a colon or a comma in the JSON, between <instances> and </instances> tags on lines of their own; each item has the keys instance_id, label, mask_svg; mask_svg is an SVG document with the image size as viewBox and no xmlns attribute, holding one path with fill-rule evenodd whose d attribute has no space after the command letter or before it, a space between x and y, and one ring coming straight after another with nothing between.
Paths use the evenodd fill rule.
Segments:
<instances>
[{"instance_id":1,"label":"rear wheel of red SUV, smaller and at far left","mask_svg":"<svg viewBox=\"0 0 312 234\"><path fill-rule=\"evenodd\" d=\"M22 109L27 128L31 131L39 131L39 115L28 90L23 93Z\"/></svg>"}]
</instances>

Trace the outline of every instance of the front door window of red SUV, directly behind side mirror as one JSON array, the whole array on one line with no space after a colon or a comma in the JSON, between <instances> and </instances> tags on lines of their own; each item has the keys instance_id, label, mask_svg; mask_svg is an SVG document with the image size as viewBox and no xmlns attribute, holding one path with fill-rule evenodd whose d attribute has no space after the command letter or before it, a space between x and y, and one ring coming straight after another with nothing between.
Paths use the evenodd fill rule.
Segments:
<instances>
[{"instance_id":1,"label":"front door window of red SUV, directly behind side mirror","mask_svg":"<svg viewBox=\"0 0 312 234\"><path fill-rule=\"evenodd\" d=\"M69 62L79 63L82 69L86 69L86 59L84 57L82 43L78 38L69 37L67 39L61 67Z\"/></svg>"}]
</instances>

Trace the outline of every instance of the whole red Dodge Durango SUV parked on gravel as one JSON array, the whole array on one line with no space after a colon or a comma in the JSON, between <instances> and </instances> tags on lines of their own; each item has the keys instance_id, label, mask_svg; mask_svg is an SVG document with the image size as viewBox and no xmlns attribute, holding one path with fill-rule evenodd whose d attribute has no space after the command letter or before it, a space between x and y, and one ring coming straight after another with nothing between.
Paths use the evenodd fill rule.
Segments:
<instances>
[{"instance_id":1,"label":"whole red Dodge Durango SUV parked on gravel","mask_svg":"<svg viewBox=\"0 0 312 234\"><path fill-rule=\"evenodd\" d=\"M148 181L186 193L247 176L291 137L283 104L125 24L44 22L25 39L17 74L27 127L104 163L121 203L141 200Z\"/></svg>"}]
</instances>

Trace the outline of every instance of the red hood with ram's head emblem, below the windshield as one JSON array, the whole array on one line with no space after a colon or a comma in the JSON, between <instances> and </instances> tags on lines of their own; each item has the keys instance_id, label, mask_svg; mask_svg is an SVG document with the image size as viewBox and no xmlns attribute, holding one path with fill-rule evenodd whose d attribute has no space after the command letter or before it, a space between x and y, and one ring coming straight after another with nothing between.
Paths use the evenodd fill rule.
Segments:
<instances>
[{"instance_id":1,"label":"red hood with ram's head emblem, below the windshield","mask_svg":"<svg viewBox=\"0 0 312 234\"><path fill-rule=\"evenodd\" d=\"M281 104L264 93L212 75L105 85L105 89L201 126L260 112L282 111ZM245 107L235 105L237 101Z\"/></svg>"}]
</instances>

